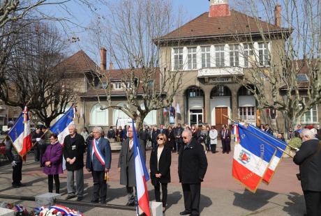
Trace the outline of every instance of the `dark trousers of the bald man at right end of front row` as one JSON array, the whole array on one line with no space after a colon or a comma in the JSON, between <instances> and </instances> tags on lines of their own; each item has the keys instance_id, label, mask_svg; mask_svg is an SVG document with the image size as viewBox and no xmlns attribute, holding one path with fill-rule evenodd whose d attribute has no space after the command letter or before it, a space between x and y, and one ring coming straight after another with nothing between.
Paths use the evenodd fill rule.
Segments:
<instances>
[{"instance_id":1,"label":"dark trousers of the bald man at right end of front row","mask_svg":"<svg viewBox=\"0 0 321 216\"><path fill-rule=\"evenodd\" d=\"M185 210L192 215L200 215L200 183L181 184L184 194Z\"/></svg>"}]
</instances>

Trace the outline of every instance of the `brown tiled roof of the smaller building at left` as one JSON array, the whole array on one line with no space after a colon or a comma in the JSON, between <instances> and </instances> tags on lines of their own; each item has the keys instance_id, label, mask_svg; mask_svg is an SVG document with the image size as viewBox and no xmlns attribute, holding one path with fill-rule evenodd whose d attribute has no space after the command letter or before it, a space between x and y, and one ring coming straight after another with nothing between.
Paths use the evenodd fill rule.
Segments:
<instances>
[{"instance_id":1,"label":"brown tiled roof of the smaller building at left","mask_svg":"<svg viewBox=\"0 0 321 216\"><path fill-rule=\"evenodd\" d=\"M99 70L98 65L96 65L96 63L82 50L76 52L72 56L59 63L57 67L64 69L66 72Z\"/></svg>"}]
</instances>

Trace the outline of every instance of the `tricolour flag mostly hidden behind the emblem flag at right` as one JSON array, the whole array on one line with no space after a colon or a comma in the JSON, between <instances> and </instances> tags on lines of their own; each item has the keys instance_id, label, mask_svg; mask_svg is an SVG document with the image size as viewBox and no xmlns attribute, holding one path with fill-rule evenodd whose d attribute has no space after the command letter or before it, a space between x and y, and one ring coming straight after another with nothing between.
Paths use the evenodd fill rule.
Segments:
<instances>
[{"instance_id":1,"label":"tricolour flag mostly hidden behind the emblem flag at right","mask_svg":"<svg viewBox=\"0 0 321 216\"><path fill-rule=\"evenodd\" d=\"M267 173L265 173L263 177L264 183L268 184L270 183L271 178L274 175L274 172L276 171L276 167L278 167L278 164L281 161L281 158L283 156L283 151L285 151L285 148L286 146L288 146L288 144L285 141L282 141L281 139L277 139L271 134L268 134L267 132L264 132L258 128L255 128L255 126L253 125L249 125L248 130L251 132L257 133L260 137L262 137L262 139L265 139L266 141L268 141L269 144L278 147L276 148L276 155L272 158L271 164L267 169Z\"/></svg>"}]
</instances>

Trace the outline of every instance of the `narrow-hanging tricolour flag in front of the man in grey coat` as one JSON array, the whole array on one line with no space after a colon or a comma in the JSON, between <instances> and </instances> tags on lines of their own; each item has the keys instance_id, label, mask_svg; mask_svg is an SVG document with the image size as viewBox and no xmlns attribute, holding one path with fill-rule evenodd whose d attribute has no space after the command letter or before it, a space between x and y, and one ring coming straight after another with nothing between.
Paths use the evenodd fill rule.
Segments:
<instances>
[{"instance_id":1,"label":"narrow-hanging tricolour flag in front of the man in grey coat","mask_svg":"<svg viewBox=\"0 0 321 216\"><path fill-rule=\"evenodd\" d=\"M140 210L147 216L151 216L149 210L149 199L146 182L149 180L149 174L144 163L144 156L140 149L140 143L137 138L134 120L133 120L133 139L134 139L134 157L135 157L135 174L137 188L137 205Z\"/></svg>"}]
</instances>

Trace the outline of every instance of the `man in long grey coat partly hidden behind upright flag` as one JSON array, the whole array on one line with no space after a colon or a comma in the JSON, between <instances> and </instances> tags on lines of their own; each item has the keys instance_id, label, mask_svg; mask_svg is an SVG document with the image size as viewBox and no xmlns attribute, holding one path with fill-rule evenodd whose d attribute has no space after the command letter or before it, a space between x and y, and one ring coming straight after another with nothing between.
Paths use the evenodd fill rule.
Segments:
<instances>
[{"instance_id":1,"label":"man in long grey coat partly hidden behind upright flag","mask_svg":"<svg viewBox=\"0 0 321 216\"><path fill-rule=\"evenodd\" d=\"M134 139L133 128L127 129L127 139L121 144L119 153L118 169L120 171L120 184L126 185L128 202L126 206L135 206L134 187L136 186L135 178L135 157L134 157ZM142 155L145 155L144 143L140 140Z\"/></svg>"}]
</instances>

